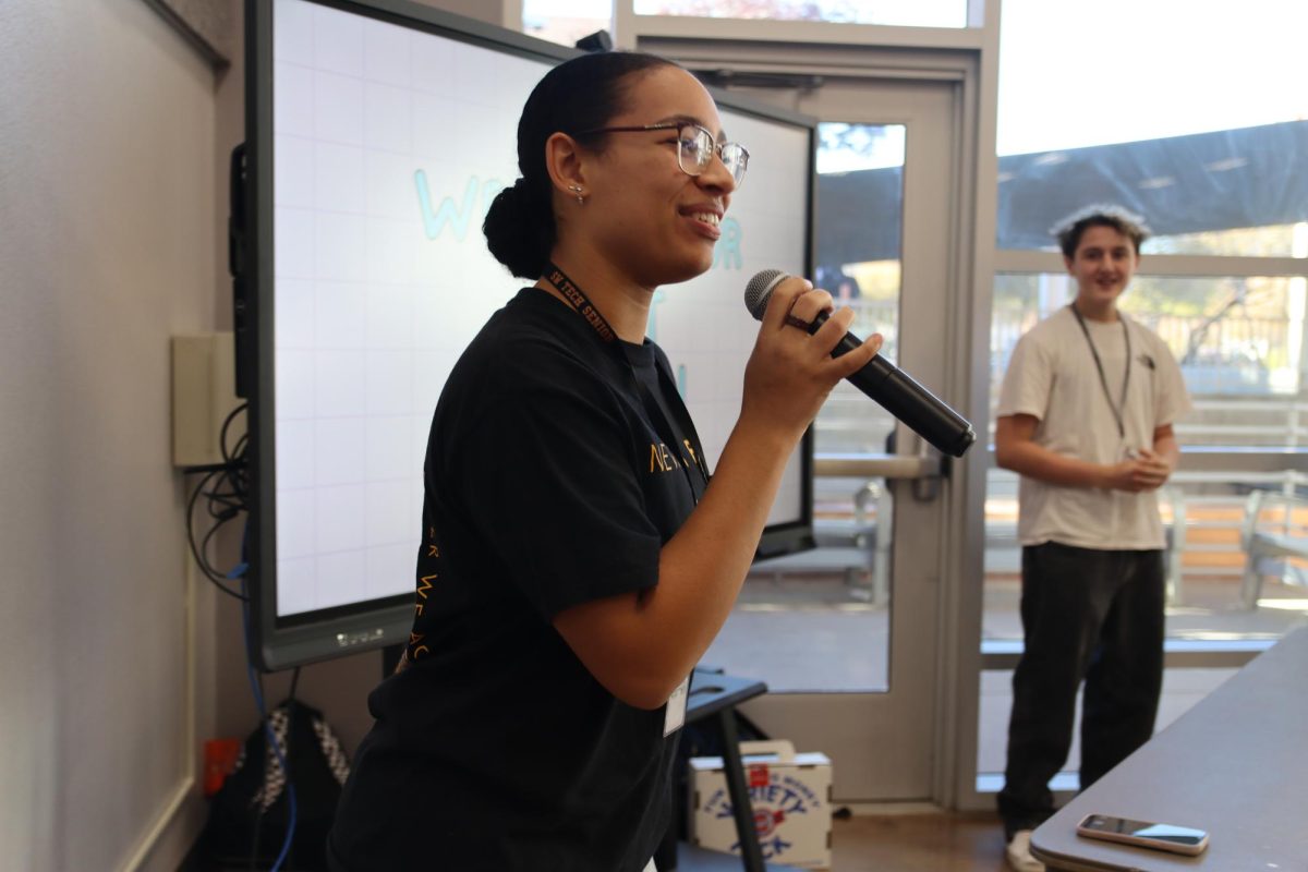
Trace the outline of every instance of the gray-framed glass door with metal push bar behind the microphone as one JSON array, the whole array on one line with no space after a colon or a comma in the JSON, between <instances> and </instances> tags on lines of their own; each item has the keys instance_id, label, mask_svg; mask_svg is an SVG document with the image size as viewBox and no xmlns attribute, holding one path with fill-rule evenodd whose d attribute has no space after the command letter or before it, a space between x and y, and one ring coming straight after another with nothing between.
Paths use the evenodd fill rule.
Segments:
<instances>
[{"instance_id":1,"label":"gray-framed glass door with metal push bar behind the microphone","mask_svg":"<svg viewBox=\"0 0 1308 872\"><path fill-rule=\"evenodd\" d=\"M961 407L965 386L950 383L967 348L951 316L964 293L950 269L956 84L739 90L821 120L814 280L855 309L855 333L880 332L887 358ZM704 660L768 682L748 714L831 757L837 801L930 799L954 482L852 386L832 394L815 431L819 548L757 563Z\"/></svg>"}]
</instances>

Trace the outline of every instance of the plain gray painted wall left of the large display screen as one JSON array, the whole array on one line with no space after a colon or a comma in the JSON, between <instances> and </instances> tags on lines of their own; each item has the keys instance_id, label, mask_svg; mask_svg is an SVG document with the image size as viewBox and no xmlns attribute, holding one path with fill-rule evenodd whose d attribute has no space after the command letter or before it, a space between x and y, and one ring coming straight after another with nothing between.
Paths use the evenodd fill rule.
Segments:
<instances>
[{"instance_id":1,"label":"plain gray painted wall left of the large display screen","mask_svg":"<svg viewBox=\"0 0 1308 872\"><path fill-rule=\"evenodd\" d=\"M255 727L239 612L191 575L169 454L169 339L230 327L242 48L239 4L215 1L237 18L220 72L141 0L0 5L5 869L175 869L204 820L200 743ZM301 679L351 750L379 663Z\"/></svg>"}]
</instances>

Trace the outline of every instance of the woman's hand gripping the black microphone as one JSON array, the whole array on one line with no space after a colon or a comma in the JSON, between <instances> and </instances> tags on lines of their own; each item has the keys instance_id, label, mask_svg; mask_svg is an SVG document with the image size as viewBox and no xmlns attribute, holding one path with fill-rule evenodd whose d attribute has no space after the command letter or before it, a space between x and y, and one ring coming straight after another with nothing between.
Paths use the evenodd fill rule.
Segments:
<instances>
[{"instance_id":1,"label":"woman's hand gripping the black microphone","mask_svg":"<svg viewBox=\"0 0 1308 872\"><path fill-rule=\"evenodd\" d=\"M814 289L804 278L790 277L773 289L746 365L742 422L798 442L836 383L861 370L880 350L882 336L874 333L853 352L831 356L854 320L848 307L835 311L812 335L786 320L790 315L811 323L831 309L831 294Z\"/></svg>"}]
</instances>

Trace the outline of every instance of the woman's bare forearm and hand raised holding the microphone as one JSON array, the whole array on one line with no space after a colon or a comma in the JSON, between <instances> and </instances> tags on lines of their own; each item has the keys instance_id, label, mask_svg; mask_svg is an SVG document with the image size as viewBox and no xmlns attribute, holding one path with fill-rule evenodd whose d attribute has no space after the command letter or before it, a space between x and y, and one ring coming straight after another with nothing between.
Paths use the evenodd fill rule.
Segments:
<instances>
[{"instance_id":1,"label":"woman's bare forearm and hand raised holding the microphone","mask_svg":"<svg viewBox=\"0 0 1308 872\"><path fill-rule=\"evenodd\" d=\"M831 294L802 278L772 293L744 374L740 420L704 497L659 552L658 584L591 600L555 616L555 628L595 680L640 709L658 709L708 651L749 571L786 459L836 382L872 360L882 337L831 357L854 312L842 309L808 335Z\"/></svg>"}]
</instances>

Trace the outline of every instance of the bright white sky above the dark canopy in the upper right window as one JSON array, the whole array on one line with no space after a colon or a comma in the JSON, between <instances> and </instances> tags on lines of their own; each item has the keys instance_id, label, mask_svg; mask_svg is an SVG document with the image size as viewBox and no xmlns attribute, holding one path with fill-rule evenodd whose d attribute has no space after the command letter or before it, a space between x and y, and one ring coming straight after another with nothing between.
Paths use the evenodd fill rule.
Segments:
<instances>
[{"instance_id":1,"label":"bright white sky above the dark canopy in the upper right window","mask_svg":"<svg viewBox=\"0 0 1308 872\"><path fill-rule=\"evenodd\" d=\"M1308 118L1308 4L1003 0L998 153L1137 143Z\"/></svg>"}]
</instances>

